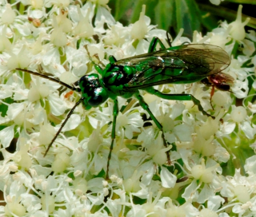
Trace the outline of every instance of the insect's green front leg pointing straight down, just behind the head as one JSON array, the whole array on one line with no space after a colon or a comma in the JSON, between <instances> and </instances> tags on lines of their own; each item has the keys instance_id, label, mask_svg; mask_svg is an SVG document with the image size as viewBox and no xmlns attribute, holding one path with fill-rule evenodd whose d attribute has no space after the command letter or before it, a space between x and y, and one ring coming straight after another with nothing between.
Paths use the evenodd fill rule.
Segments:
<instances>
[{"instance_id":1,"label":"insect's green front leg pointing straight down, just behind the head","mask_svg":"<svg viewBox=\"0 0 256 217\"><path fill-rule=\"evenodd\" d=\"M117 102L117 99L114 99L113 123L112 123L112 133L111 133L111 139L112 139L112 140L111 140L110 152L109 152L109 156L108 156L106 179L109 179L109 165L110 165L111 154L112 154L113 146L114 146L115 125L116 125L116 117L117 117L117 114L118 114L118 102Z\"/></svg>"}]
</instances>

